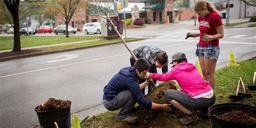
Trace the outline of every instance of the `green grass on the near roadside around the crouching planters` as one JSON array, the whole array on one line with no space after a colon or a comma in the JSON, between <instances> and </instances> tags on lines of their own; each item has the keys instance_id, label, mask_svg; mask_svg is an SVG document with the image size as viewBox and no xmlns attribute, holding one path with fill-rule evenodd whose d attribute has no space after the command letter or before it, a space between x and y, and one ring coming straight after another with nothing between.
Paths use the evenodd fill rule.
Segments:
<instances>
[{"instance_id":1,"label":"green grass on the near roadside around the crouching planters","mask_svg":"<svg viewBox=\"0 0 256 128\"><path fill-rule=\"evenodd\" d=\"M215 104L221 103L230 103L229 96L235 95L235 90L237 88L237 83L239 77L242 78L245 86L252 85L253 73L256 71L256 58L246 60L244 62L238 63L238 66L226 66L225 68L219 69L215 72L216 77L216 88L215 94L217 96L217 100ZM240 89L240 92L242 89ZM256 92L247 90L246 93L251 93L252 97L244 98L244 100L238 102L243 104L249 104L255 106L256 101ZM85 120L82 124L82 127L91 127L91 126L111 126L118 127L116 116L118 111L107 111L99 116L94 116L93 118L89 118ZM105 122L100 122L100 120L105 120ZM178 118L174 119L177 124ZM160 122L161 120L159 120ZM114 124L114 125L113 125ZM197 126L192 125L181 125L181 127L211 127L210 120L208 119L200 119L200 122Z\"/></svg>"}]
</instances>

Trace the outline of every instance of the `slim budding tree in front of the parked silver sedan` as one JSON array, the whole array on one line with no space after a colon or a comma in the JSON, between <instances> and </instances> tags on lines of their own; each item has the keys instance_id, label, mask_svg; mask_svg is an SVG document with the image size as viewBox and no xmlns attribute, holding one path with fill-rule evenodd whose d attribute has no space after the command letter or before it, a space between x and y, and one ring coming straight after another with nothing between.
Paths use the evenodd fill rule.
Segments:
<instances>
[{"instance_id":1,"label":"slim budding tree in front of the parked silver sedan","mask_svg":"<svg viewBox=\"0 0 256 128\"><path fill-rule=\"evenodd\" d=\"M84 0L52 0L52 5L49 7L51 10L59 19L64 21L66 25L66 37L69 37L69 30L68 26L70 23L70 20L75 14L75 12L78 10L78 5L82 4L85 5Z\"/></svg>"}]
</instances>

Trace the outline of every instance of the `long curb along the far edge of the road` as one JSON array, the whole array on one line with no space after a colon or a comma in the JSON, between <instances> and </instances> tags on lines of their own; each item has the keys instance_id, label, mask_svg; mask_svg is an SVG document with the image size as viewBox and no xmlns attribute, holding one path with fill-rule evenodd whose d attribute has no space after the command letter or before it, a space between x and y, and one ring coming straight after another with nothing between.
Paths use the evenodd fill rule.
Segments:
<instances>
[{"instance_id":1,"label":"long curb along the far edge of the road","mask_svg":"<svg viewBox=\"0 0 256 128\"><path fill-rule=\"evenodd\" d=\"M125 41L125 42L127 43L127 42L134 42L134 41L142 41L144 39L147 39L147 38L131 39L131 40ZM71 48L71 49L62 49L62 50L55 50L55 51L37 52L37 53L30 53L30 54L25 54L25 55L3 57L3 58L0 58L0 62L7 61L7 60L13 60L13 59L26 58L26 57L48 55L48 54L52 54L52 53L59 53L59 52L66 52L66 51L75 51L75 50L81 50L81 49L96 48L98 46L106 46L106 45L113 45L113 44L119 44L119 43L123 43L123 42L120 41L120 42L113 42L113 43L107 43L107 44L97 44L97 45L90 45L90 46L82 46L82 47Z\"/></svg>"}]
</instances>

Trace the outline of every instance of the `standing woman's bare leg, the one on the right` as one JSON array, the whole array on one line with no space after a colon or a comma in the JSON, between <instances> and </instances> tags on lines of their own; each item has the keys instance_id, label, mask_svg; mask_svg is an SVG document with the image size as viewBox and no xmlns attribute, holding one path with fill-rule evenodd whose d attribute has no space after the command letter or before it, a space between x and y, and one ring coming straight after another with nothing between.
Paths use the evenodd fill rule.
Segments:
<instances>
[{"instance_id":1,"label":"standing woman's bare leg, the one on the right","mask_svg":"<svg viewBox=\"0 0 256 128\"><path fill-rule=\"evenodd\" d=\"M216 86L215 68L216 68L217 60L204 58L204 62L205 62L205 72L206 72L207 81L209 82L210 86L214 90Z\"/></svg>"}]
</instances>

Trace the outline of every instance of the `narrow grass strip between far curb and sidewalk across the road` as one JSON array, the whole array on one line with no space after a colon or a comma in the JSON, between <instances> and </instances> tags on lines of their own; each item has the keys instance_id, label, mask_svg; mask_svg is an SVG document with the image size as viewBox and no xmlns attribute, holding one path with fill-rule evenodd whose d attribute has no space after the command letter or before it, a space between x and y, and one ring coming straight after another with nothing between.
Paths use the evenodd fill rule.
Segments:
<instances>
[{"instance_id":1,"label":"narrow grass strip between far curb and sidewalk across the road","mask_svg":"<svg viewBox=\"0 0 256 128\"><path fill-rule=\"evenodd\" d=\"M131 39L136 39L136 38L125 38L124 40L129 41ZM99 44L108 44L108 43L113 43L113 42L121 42L121 39L92 41L92 42L85 42L85 43L78 43L78 44L57 45L57 46L51 46L51 47L47 48L46 51L78 48L78 47L82 47L82 46L92 46L92 45L99 45Z\"/></svg>"}]
</instances>

